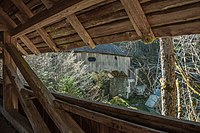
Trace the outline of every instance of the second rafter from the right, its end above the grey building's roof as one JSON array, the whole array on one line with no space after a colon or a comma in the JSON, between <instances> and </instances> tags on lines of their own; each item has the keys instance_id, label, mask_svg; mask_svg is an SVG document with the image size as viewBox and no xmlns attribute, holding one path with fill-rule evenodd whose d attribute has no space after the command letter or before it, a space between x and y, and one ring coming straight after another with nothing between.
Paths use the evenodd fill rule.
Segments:
<instances>
[{"instance_id":1,"label":"second rafter from the right, its end above the grey building's roof","mask_svg":"<svg viewBox=\"0 0 200 133\"><path fill-rule=\"evenodd\" d=\"M81 22L78 20L75 14L67 16L67 20L72 25L72 27L75 29L75 31L78 33L78 35L81 37L81 39L86 43L89 44L91 48L95 48L95 43L88 34L88 32L85 30Z\"/></svg>"}]
</instances>

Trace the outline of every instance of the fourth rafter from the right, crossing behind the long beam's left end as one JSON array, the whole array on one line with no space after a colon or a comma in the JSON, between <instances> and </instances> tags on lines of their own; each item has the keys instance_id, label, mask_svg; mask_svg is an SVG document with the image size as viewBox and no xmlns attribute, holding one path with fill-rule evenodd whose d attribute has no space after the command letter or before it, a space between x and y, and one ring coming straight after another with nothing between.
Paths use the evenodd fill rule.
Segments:
<instances>
[{"instance_id":1,"label":"fourth rafter from the right, crossing behind the long beam's left end","mask_svg":"<svg viewBox=\"0 0 200 133\"><path fill-rule=\"evenodd\" d=\"M6 12L4 12L4 10L2 8L0 8L0 17L2 19L2 22L4 23L4 25L7 26L8 29L13 29L13 28L17 27L17 24L7 15ZM28 37L23 35L19 38L31 50L31 52L33 52L35 54L40 53L40 51L37 49L37 47L31 42L31 40ZM22 52L22 51L20 50L20 52Z\"/></svg>"}]
</instances>

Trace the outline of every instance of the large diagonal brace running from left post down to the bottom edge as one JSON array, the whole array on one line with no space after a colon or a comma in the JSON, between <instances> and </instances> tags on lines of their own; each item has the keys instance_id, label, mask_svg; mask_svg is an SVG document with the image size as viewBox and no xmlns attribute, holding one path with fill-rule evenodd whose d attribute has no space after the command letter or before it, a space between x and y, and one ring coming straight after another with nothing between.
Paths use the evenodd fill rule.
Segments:
<instances>
[{"instance_id":1,"label":"large diagonal brace running from left post down to the bottom edge","mask_svg":"<svg viewBox=\"0 0 200 133\"><path fill-rule=\"evenodd\" d=\"M25 80L32 88L35 97L42 104L60 131L62 133L83 133L84 131L72 117L68 113L61 111L57 105L54 104L55 97L33 72L21 53L12 44L3 44L3 47L8 51Z\"/></svg>"}]
</instances>

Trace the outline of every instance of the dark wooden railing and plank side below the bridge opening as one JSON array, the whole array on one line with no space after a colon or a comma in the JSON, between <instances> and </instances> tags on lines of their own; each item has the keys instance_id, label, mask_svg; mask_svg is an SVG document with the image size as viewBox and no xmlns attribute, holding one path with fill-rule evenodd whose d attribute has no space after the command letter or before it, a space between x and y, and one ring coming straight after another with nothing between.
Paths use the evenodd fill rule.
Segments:
<instances>
[{"instance_id":1,"label":"dark wooden railing and plank side below the bridge opening","mask_svg":"<svg viewBox=\"0 0 200 133\"><path fill-rule=\"evenodd\" d=\"M33 96L30 87L26 86L23 91L30 97ZM58 93L52 94L56 98L56 104L65 111L70 112L76 122L88 133L106 131L140 132L142 130L144 132L181 133L200 131L199 123L152 115L146 112L91 102ZM51 127L51 131L59 132L41 104L34 98L32 100L40 114L42 114L44 121Z\"/></svg>"}]
</instances>

